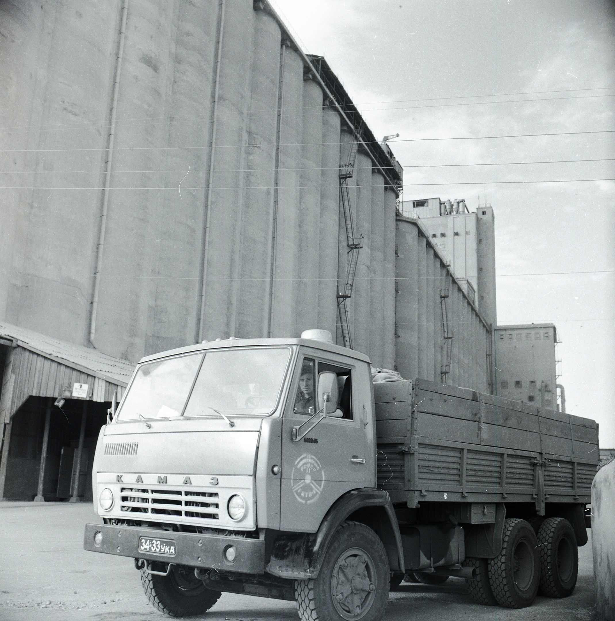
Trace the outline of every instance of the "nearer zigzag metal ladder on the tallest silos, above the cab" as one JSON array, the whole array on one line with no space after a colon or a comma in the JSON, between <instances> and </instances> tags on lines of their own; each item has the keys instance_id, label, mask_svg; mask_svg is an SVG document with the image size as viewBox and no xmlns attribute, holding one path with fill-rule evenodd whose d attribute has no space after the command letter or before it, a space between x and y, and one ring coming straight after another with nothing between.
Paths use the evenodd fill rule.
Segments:
<instances>
[{"instance_id":1,"label":"nearer zigzag metal ladder on the tallest silos, above the cab","mask_svg":"<svg viewBox=\"0 0 615 621\"><path fill-rule=\"evenodd\" d=\"M346 241L348 245L348 269L346 270L346 283L337 291L337 308L340 314L340 325L342 327L342 339L344 347L352 349L352 337L350 336L350 322L348 320L347 300L352 296L352 287L355 282L357 271L358 253L363 248L363 235L355 237L355 229L352 222L352 206L350 204L350 191L348 189L348 179L354 174L355 161L357 160L358 135L357 140L353 140L348 149L348 157L345 163L340 163L340 199L344 210L344 222L346 225Z\"/></svg>"}]
</instances>

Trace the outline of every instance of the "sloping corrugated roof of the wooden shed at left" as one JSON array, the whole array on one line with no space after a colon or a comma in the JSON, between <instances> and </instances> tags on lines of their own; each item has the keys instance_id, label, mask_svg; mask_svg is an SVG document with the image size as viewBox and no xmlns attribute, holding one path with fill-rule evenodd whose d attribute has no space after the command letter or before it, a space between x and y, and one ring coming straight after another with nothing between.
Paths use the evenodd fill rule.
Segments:
<instances>
[{"instance_id":1,"label":"sloping corrugated roof of the wooden shed at left","mask_svg":"<svg viewBox=\"0 0 615 621\"><path fill-rule=\"evenodd\" d=\"M135 365L126 360L6 322L0 322L0 338L118 386L127 386L135 369Z\"/></svg>"}]
</instances>

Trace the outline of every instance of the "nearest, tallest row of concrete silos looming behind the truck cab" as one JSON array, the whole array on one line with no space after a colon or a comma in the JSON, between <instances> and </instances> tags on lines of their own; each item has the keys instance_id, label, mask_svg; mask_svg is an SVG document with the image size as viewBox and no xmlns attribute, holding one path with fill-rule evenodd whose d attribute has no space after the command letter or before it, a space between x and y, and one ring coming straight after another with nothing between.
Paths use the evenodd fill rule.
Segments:
<instances>
[{"instance_id":1,"label":"nearest, tallest row of concrete silos looming behind the truck cab","mask_svg":"<svg viewBox=\"0 0 615 621\"><path fill-rule=\"evenodd\" d=\"M0 319L130 361L335 333L354 138L275 16L252 0L26 1L3 2L0 23L16 188L2 190ZM350 185L353 341L393 366L396 194L367 152Z\"/></svg>"}]
</instances>

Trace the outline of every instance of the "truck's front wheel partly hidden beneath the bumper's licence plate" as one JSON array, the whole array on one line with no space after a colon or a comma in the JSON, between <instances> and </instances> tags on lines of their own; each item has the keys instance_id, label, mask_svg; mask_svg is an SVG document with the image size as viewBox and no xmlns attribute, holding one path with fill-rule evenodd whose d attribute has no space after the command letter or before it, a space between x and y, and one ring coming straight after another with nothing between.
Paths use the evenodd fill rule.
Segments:
<instances>
[{"instance_id":1,"label":"truck's front wheel partly hidden beneath the bumper's licence plate","mask_svg":"<svg viewBox=\"0 0 615 621\"><path fill-rule=\"evenodd\" d=\"M222 593L207 589L194 569L175 565L168 576L141 569L141 584L150 604L170 617L191 617L207 612Z\"/></svg>"}]
</instances>

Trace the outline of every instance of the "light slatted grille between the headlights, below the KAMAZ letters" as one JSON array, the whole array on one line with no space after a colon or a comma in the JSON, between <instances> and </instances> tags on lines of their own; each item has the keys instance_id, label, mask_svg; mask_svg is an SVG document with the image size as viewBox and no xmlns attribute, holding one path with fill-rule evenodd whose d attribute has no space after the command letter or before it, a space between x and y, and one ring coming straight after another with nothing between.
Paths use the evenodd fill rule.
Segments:
<instances>
[{"instance_id":1,"label":"light slatted grille between the headlights, below the KAMAZ letters","mask_svg":"<svg viewBox=\"0 0 615 621\"><path fill-rule=\"evenodd\" d=\"M219 509L217 492L145 487L122 487L120 508L127 513L203 520L217 520Z\"/></svg>"}]
</instances>

